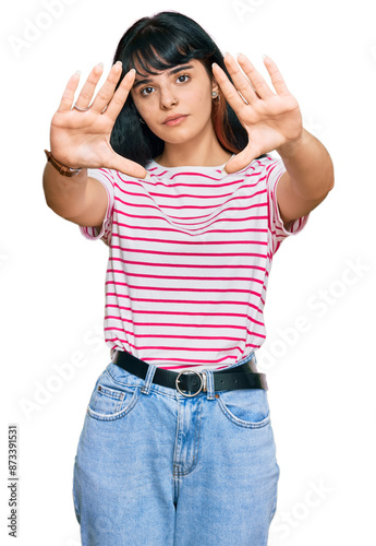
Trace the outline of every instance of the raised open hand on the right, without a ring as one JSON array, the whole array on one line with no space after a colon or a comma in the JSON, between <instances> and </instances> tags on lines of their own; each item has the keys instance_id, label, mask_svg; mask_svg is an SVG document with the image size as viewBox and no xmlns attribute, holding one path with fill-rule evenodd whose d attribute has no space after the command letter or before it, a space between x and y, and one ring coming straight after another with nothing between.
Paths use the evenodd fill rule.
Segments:
<instances>
[{"instance_id":1,"label":"raised open hand on the right, without a ring","mask_svg":"<svg viewBox=\"0 0 376 546\"><path fill-rule=\"evenodd\" d=\"M234 85L218 64L213 66L218 85L248 133L246 147L226 165L226 171L229 174L241 170L262 154L278 151L283 146L293 146L303 133L298 102L286 86L276 63L269 57L264 59L277 94L244 55L238 56L238 62L245 75L233 57L225 57Z\"/></svg>"}]
</instances>

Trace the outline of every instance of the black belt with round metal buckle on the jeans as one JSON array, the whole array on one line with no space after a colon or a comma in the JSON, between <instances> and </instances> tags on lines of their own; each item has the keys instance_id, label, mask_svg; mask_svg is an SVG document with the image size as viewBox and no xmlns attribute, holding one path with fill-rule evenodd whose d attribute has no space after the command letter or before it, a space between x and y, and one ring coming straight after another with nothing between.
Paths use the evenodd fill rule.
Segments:
<instances>
[{"instance_id":1,"label":"black belt with round metal buckle on the jeans","mask_svg":"<svg viewBox=\"0 0 376 546\"><path fill-rule=\"evenodd\" d=\"M144 360L125 353L123 351L114 351L112 361L124 370L137 376L142 379L146 378L149 365ZM214 390L215 391L232 391L234 389L264 389L267 390L265 373L252 371L253 363L241 364L234 368L214 371ZM162 368L156 368L154 373L154 383L171 389L178 389L184 396L195 396L201 391L207 391L206 373L198 372L192 369L185 369L179 373ZM187 392L193 394L187 394Z\"/></svg>"}]
</instances>

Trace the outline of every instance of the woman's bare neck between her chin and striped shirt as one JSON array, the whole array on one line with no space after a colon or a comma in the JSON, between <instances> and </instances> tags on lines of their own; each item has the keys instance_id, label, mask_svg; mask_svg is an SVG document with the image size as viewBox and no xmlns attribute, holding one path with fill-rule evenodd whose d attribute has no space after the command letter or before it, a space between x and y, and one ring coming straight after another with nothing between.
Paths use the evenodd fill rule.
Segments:
<instances>
[{"instance_id":1,"label":"woman's bare neck between her chin and striped shirt","mask_svg":"<svg viewBox=\"0 0 376 546\"><path fill-rule=\"evenodd\" d=\"M223 150L219 144L214 130L210 134L205 131L195 139L183 144L165 142L165 150L155 161L162 167L201 166L216 167L228 162L231 152Z\"/></svg>"}]
</instances>

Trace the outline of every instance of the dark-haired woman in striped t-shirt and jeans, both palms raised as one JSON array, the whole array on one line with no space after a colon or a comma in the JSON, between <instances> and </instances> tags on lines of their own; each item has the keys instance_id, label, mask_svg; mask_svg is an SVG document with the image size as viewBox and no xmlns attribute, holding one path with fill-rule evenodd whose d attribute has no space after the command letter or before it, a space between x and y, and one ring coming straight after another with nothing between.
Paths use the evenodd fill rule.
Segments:
<instances>
[{"instance_id":1,"label":"dark-haired woman in striped t-shirt and jeans, both palms raised","mask_svg":"<svg viewBox=\"0 0 376 546\"><path fill-rule=\"evenodd\" d=\"M279 477L255 360L267 280L333 173L264 62L275 91L161 12L124 34L96 95L100 66L76 103L74 74L52 118L47 203L109 246L112 360L74 465L83 545L267 544Z\"/></svg>"}]
</instances>

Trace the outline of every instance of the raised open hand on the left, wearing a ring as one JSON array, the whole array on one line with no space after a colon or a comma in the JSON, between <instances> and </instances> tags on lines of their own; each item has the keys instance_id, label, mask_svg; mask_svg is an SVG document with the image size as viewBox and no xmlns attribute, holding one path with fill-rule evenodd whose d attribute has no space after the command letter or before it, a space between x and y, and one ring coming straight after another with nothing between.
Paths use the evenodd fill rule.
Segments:
<instances>
[{"instance_id":1,"label":"raised open hand on the left, wearing a ring","mask_svg":"<svg viewBox=\"0 0 376 546\"><path fill-rule=\"evenodd\" d=\"M145 178L146 169L142 165L117 154L110 145L113 124L135 78L133 70L128 72L114 92L121 68L120 61L111 67L105 84L86 111L72 108L80 75L74 74L69 80L50 130L52 155L63 165L113 168L136 178ZM87 108L90 104L101 73L100 64L92 70L75 103L80 108Z\"/></svg>"}]
</instances>

